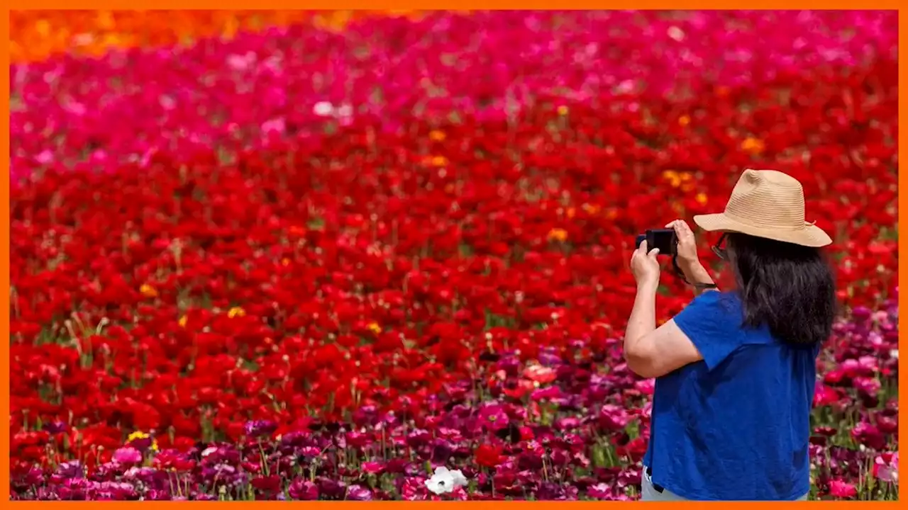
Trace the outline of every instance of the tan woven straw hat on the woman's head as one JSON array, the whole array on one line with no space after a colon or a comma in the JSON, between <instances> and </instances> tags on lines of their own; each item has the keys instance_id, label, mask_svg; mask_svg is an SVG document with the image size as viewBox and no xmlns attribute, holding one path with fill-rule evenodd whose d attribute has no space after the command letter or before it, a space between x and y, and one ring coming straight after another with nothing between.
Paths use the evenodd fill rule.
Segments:
<instances>
[{"instance_id":1,"label":"tan woven straw hat on the woman's head","mask_svg":"<svg viewBox=\"0 0 908 510\"><path fill-rule=\"evenodd\" d=\"M833 240L804 221L804 189L794 177L775 170L745 170L725 212L702 214L694 222L707 231L739 232L819 248Z\"/></svg>"}]
</instances>

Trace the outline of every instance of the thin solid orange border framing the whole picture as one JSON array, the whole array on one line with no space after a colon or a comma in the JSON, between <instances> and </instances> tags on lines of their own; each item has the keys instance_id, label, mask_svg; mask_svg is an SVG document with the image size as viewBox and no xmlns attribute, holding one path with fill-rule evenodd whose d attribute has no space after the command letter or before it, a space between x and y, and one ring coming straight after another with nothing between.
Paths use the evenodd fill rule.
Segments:
<instances>
[{"instance_id":1,"label":"thin solid orange border framing the whole picture","mask_svg":"<svg viewBox=\"0 0 908 510\"><path fill-rule=\"evenodd\" d=\"M899 2L894 0L873 0L873 1L864 1L864 2L845 2L845 1L801 1L801 2L792 2L791 0L764 0L762 2L746 2L746 5L742 5L738 2L721 2L721 1L710 1L710 0L676 0L675 2L664 2L658 0L612 0L609 2L595 2L590 0L567 0L559 2L558 9L741 9L742 7L750 9L878 9L878 10L899 10ZM9 11L10 10L32 10L32 9L60 9L60 10L72 10L72 9L110 9L110 10L134 10L134 9L149 9L149 10L163 10L163 9L340 9L340 8L350 8L350 9L387 9L387 8L400 8L400 9L426 9L426 10L441 10L445 8L449 9L551 9L552 3L550 1L538 1L538 0L522 0L522 1L512 1L512 0L486 0L485 2L469 2L460 0L459 2L425 2L419 0L394 0L391 2L345 2L343 0L310 0L307 2L292 2L290 0L259 0L258 2L252 2L250 0L95 0L94 2L64 2L62 0L57 1L48 1L48 0L13 0L10 2L10 5L5 7L5 15L3 19L0 20L0 34L2 34L5 40L9 39ZM899 12L899 45L901 47L905 46L905 33L903 29L904 19L901 11ZM0 79L0 87L2 87L3 95L7 98L3 103L0 103L0 111L3 113L3 121L0 122L0 147L2 147L2 163L5 166L6 174L9 175L9 46L4 45L2 52L3 58L3 77ZM902 54L899 54L899 81L901 83L908 83L908 76L905 74L905 67L903 63L904 59ZM905 120L905 110L904 108L899 108L899 122ZM908 142L908 135L905 134L905 131L902 130L899 133L899 146L904 147ZM903 182L908 184L908 173L899 174L899 187L902 187ZM2 195L2 202L0 202L0 213L4 218L4 225L9 224L9 179L0 180L0 195ZM902 211L908 202L908 198L905 195L900 195L898 200L899 206L899 222L902 222ZM9 228L0 230L0 266L9 268ZM904 236L901 236L899 239L899 251L903 251L908 248L908 239ZM905 269L908 264L904 262L903 259L899 260L899 286L902 287L905 283ZM9 270L2 271L0 274L0 288L5 289L5 291L0 292L0 337L8 338L9 336ZM905 294L902 292L899 294L899 308L903 308L902 305L908 300L905 298ZM899 335L899 348L900 350L904 347L903 337ZM0 341L0 411L3 412L2 416L9 416L9 344L4 341ZM908 382L908 375L905 371L900 371L899 373L899 387L906 387L906 382ZM899 408L900 410L905 407L905 401L908 400L908 397L905 397L905 393L899 396ZM899 413L901 417L901 412ZM903 420L899 420L899 433L900 436L904 436L905 427L903 426ZM84 507L86 504L80 505L77 502L10 502L9 501L9 442L10 436L8 432L0 434L0 501L3 505L13 505L15 508L77 508ZM164 507L173 507L173 505L180 505L180 502L110 502L104 503L104 507L107 508L134 508L141 506L144 508L164 508ZM252 508L253 506L261 505L274 505L272 507L277 507L281 505L293 505L289 502L192 502L192 505L217 505L219 508L231 507L236 508L239 506L246 506L247 508ZM370 503L356 503L356 502L306 502L299 503L297 505L306 505L310 508L360 508L362 506L369 506L372 510L381 510L390 508L400 508L402 506L409 506L410 508L428 508L429 505L432 505L435 508L435 505L447 505L447 506L457 506L458 508L471 508L475 510L479 509L496 509L496 510L511 510L516 508L532 508L536 510L556 510L562 508L564 505L568 505L574 508L603 508L610 506L612 508L617 507L617 505L622 505L619 502L528 502L528 501L511 501L511 502L370 502ZM897 508L903 505L902 502L902 491L899 491L899 501L897 502L823 502L826 505L826 508L854 508L856 505L873 505L876 508ZM716 505L712 503L698 503L698 502L681 502L677 504L668 504L668 503L637 503L637 505L647 505L650 507L680 507L680 508L696 508L705 505ZM723 504L727 506L732 506L735 508L757 508L762 506L773 505L770 503L726 503ZM811 502L800 502L792 503L791 505L800 505L800 506L810 506L813 505Z\"/></svg>"}]
</instances>

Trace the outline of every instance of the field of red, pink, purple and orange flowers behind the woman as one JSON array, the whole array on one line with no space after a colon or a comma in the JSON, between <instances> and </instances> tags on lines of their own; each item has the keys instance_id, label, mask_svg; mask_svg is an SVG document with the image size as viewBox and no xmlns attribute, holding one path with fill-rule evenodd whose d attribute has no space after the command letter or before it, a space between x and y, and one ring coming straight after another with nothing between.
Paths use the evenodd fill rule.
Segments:
<instances>
[{"instance_id":1,"label":"field of red, pink, purple and orange flowers behind the woman","mask_svg":"<svg viewBox=\"0 0 908 510\"><path fill-rule=\"evenodd\" d=\"M811 497L897 498L894 11L35 13L14 499L636 499L629 245L745 168L834 234Z\"/></svg>"}]
</instances>

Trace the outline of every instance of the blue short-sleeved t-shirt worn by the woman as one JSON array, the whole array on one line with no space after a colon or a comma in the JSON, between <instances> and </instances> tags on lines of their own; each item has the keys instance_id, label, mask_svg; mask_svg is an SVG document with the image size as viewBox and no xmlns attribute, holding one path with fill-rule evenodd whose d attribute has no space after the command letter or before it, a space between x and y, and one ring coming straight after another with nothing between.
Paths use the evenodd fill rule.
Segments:
<instances>
[{"instance_id":1,"label":"blue short-sleeved t-shirt worn by the woman","mask_svg":"<svg viewBox=\"0 0 908 510\"><path fill-rule=\"evenodd\" d=\"M644 465L692 500L796 500L810 490L810 410L820 346L745 328L741 300L708 291L676 317L703 355L656 378Z\"/></svg>"}]
</instances>

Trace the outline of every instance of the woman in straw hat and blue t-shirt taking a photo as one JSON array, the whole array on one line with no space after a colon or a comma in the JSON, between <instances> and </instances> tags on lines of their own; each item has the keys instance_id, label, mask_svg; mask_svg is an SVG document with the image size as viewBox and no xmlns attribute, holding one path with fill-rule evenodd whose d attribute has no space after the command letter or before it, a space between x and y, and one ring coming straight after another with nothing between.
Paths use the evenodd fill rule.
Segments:
<instances>
[{"instance_id":1,"label":"woman in straw hat and blue t-shirt taking a photo","mask_svg":"<svg viewBox=\"0 0 908 510\"><path fill-rule=\"evenodd\" d=\"M804 221L801 184L768 170L745 171L725 212L694 221L723 232L714 251L735 290L706 290L656 328L657 250L644 242L630 263L637 299L625 358L656 378L643 499L806 499L816 357L835 313L819 248L832 240ZM715 287L686 223L666 227L686 280Z\"/></svg>"}]
</instances>

